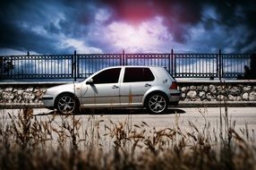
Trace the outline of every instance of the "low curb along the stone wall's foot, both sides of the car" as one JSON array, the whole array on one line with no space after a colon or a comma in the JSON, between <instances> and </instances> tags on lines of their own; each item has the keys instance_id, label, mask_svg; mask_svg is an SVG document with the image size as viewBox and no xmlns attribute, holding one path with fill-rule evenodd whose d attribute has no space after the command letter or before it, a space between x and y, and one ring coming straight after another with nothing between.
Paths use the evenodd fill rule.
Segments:
<instances>
[{"instance_id":1,"label":"low curb along the stone wall's foot, both sides of the car","mask_svg":"<svg viewBox=\"0 0 256 170\"><path fill-rule=\"evenodd\" d=\"M23 104L12 104L12 103L0 103L0 109L19 109L26 106L32 108L45 108L42 103L23 103ZM214 102L201 102L201 101L180 101L178 106L171 107L219 107L219 106L229 106L229 107L250 107L256 106L256 101L214 101Z\"/></svg>"}]
</instances>

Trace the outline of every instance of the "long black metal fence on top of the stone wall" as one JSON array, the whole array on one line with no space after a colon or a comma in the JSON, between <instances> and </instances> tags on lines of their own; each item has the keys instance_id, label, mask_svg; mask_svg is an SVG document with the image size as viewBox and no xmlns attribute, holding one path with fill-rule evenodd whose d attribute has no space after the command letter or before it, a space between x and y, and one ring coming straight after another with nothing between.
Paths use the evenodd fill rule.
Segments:
<instances>
[{"instance_id":1,"label":"long black metal fence on top of the stone wall","mask_svg":"<svg viewBox=\"0 0 256 170\"><path fill-rule=\"evenodd\" d=\"M250 54L91 54L0 56L0 78L84 79L93 72L115 65L155 65L166 67L175 78L243 77Z\"/></svg>"}]
</instances>

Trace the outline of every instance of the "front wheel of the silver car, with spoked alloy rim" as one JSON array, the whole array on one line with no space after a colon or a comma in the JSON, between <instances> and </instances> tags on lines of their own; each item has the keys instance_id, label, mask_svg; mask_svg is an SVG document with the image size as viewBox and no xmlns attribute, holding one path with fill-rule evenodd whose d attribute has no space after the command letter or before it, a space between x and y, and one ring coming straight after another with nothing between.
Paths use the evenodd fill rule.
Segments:
<instances>
[{"instance_id":1,"label":"front wheel of the silver car, with spoked alloy rim","mask_svg":"<svg viewBox=\"0 0 256 170\"><path fill-rule=\"evenodd\" d=\"M64 93L56 98L55 107L62 114L76 114L79 111L79 102L73 94Z\"/></svg>"}]
</instances>

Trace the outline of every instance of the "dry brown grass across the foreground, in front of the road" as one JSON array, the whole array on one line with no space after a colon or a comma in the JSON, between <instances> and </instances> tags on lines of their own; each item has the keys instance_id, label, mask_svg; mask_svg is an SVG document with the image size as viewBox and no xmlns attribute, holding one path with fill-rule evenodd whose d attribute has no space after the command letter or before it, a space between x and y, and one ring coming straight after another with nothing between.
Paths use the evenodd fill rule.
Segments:
<instances>
[{"instance_id":1,"label":"dry brown grass across the foreground, in front of the road","mask_svg":"<svg viewBox=\"0 0 256 170\"><path fill-rule=\"evenodd\" d=\"M235 132L227 108L211 130L189 122L191 131L175 127L157 130L148 123L121 123L90 115L82 123L74 115L38 120L30 108L0 122L1 169L255 169L254 132L247 125ZM61 116L57 122L55 116ZM110 124L110 125L109 125ZM104 127L103 130L100 128ZM211 132L213 131L213 132ZM102 133L103 132L103 133Z\"/></svg>"}]
</instances>

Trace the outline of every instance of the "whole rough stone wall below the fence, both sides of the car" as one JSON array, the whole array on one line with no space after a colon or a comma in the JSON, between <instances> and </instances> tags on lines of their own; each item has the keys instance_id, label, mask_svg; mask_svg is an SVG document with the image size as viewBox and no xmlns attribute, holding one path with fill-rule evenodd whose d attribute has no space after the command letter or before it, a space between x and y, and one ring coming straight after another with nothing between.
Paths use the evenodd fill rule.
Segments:
<instances>
[{"instance_id":1,"label":"whole rough stone wall below the fence, both sides of the car","mask_svg":"<svg viewBox=\"0 0 256 170\"><path fill-rule=\"evenodd\" d=\"M40 98L61 83L16 83L0 85L0 104L42 104ZM181 101L256 101L256 81L178 81Z\"/></svg>"}]
</instances>

